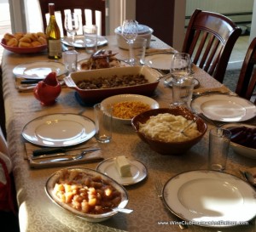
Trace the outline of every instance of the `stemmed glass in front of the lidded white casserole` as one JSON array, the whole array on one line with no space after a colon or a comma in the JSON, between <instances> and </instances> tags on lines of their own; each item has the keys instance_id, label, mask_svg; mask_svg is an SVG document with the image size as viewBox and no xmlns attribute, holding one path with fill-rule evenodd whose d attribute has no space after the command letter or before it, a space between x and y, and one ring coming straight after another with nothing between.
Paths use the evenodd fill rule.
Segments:
<instances>
[{"instance_id":1,"label":"stemmed glass in front of the lidded white casserole","mask_svg":"<svg viewBox=\"0 0 256 232\"><path fill-rule=\"evenodd\" d=\"M124 20L122 25L122 36L125 38L129 45L130 57L133 57L131 45L137 38L137 21ZM132 63L132 60L129 60Z\"/></svg>"}]
</instances>

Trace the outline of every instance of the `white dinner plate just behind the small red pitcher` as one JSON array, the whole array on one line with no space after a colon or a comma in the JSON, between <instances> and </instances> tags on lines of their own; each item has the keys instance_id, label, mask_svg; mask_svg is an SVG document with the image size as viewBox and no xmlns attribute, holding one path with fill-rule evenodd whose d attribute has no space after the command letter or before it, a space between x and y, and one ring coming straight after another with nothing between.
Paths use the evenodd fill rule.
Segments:
<instances>
[{"instance_id":1,"label":"white dinner plate just behind the small red pitcher","mask_svg":"<svg viewBox=\"0 0 256 232\"><path fill-rule=\"evenodd\" d=\"M29 79L44 79L49 72L55 71L57 76L67 73L65 65L57 61L35 61L15 66L13 73Z\"/></svg>"}]
</instances>

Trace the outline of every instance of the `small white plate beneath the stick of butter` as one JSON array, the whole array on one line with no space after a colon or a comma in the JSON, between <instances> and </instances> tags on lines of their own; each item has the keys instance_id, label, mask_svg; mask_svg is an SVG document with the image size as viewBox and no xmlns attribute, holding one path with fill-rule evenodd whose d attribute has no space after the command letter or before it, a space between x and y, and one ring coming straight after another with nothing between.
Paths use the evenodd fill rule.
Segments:
<instances>
[{"instance_id":1,"label":"small white plate beneath the stick of butter","mask_svg":"<svg viewBox=\"0 0 256 232\"><path fill-rule=\"evenodd\" d=\"M114 164L115 158L109 158L102 161L96 167L98 172L104 173L105 175L113 178L116 182L122 185L137 184L143 181L148 176L148 170L141 161L129 160L131 164L131 177L121 177Z\"/></svg>"}]
</instances>

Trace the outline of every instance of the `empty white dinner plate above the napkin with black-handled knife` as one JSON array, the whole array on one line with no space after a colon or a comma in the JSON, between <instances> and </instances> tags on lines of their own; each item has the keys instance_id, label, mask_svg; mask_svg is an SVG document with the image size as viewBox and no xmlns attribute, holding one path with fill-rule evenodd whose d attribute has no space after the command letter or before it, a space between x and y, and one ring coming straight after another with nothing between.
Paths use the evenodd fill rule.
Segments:
<instances>
[{"instance_id":1,"label":"empty white dinner plate above the napkin with black-handled knife","mask_svg":"<svg viewBox=\"0 0 256 232\"><path fill-rule=\"evenodd\" d=\"M52 114L28 122L22 136L32 144L48 147L67 147L81 144L96 133L95 123L85 116Z\"/></svg>"}]
</instances>

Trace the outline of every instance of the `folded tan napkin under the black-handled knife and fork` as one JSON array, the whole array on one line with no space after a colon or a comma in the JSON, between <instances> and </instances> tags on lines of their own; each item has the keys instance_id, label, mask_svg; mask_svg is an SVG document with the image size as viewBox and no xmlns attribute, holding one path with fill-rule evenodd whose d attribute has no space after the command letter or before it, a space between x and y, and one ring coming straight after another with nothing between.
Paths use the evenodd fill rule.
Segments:
<instances>
[{"instance_id":1,"label":"folded tan napkin under the black-handled knife and fork","mask_svg":"<svg viewBox=\"0 0 256 232\"><path fill-rule=\"evenodd\" d=\"M81 150L84 150L82 148L88 147L88 146L96 147L97 144L94 142L81 144L81 145L77 146L78 150L71 150L71 151L68 151L67 153L77 154ZM68 165L76 165L76 164L80 164L80 163L102 161L104 159L102 156L102 150L96 150L93 152L88 152L82 159L79 159L76 161L55 161L55 162L50 161L52 159L65 157L65 156L56 156L56 157L49 157L49 158L45 157L44 159L32 160L33 150L38 150L40 148L42 148L42 147L38 147L38 146L36 146L34 144L30 144L30 143L25 143L26 155L24 156L24 159L29 161L29 165L32 168L62 167L62 166L68 166ZM47 161L47 162L40 163L41 161Z\"/></svg>"}]
</instances>

